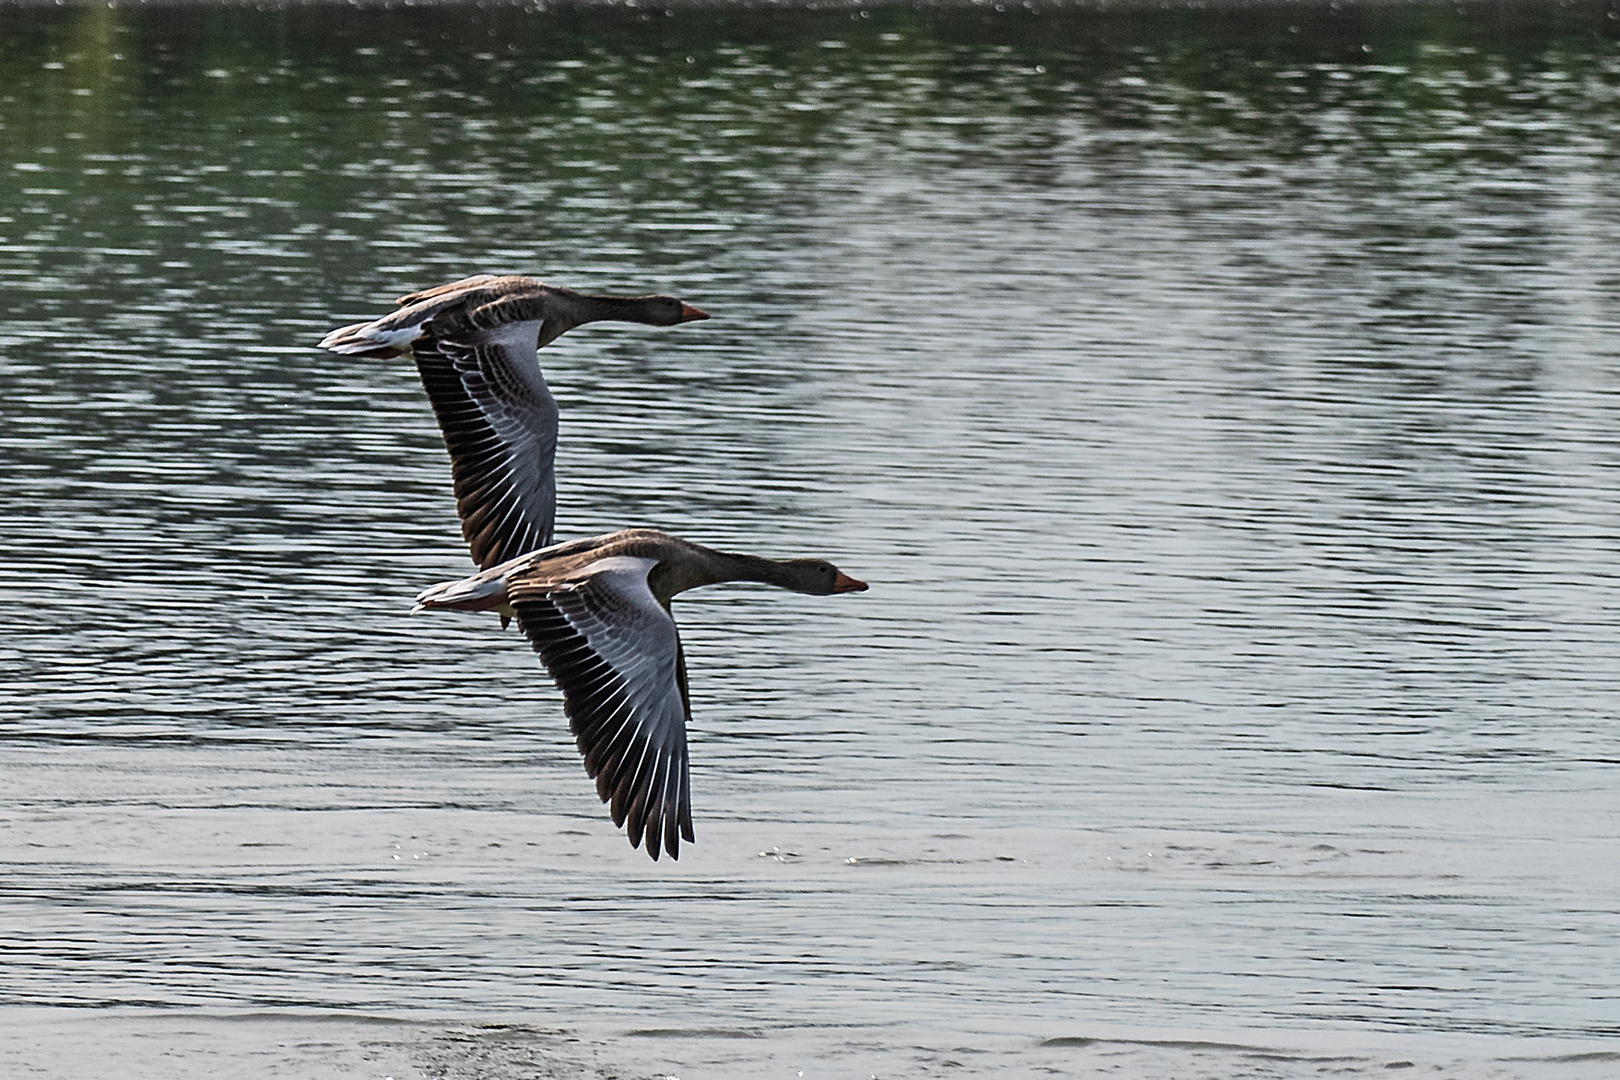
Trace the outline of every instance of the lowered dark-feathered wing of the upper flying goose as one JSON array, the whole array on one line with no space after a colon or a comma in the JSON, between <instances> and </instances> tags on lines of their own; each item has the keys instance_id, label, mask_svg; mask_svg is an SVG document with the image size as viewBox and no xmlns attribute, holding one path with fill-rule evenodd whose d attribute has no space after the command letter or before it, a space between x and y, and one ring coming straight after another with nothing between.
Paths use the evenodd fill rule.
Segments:
<instances>
[{"instance_id":1,"label":"lowered dark-feathered wing of the upper flying goose","mask_svg":"<svg viewBox=\"0 0 1620 1080\"><path fill-rule=\"evenodd\" d=\"M455 512L488 570L544 547L557 517L557 402L539 371L539 319L426 334L411 355L450 452Z\"/></svg>"}]
</instances>

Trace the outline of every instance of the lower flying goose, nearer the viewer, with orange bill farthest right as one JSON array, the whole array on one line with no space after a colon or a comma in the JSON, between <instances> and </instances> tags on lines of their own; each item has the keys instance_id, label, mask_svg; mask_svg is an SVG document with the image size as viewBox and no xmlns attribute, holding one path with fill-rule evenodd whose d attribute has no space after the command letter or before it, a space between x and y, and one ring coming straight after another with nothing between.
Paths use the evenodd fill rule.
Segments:
<instances>
[{"instance_id":1,"label":"lower flying goose, nearer the viewer, with orange bill farthest right","mask_svg":"<svg viewBox=\"0 0 1620 1080\"><path fill-rule=\"evenodd\" d=\"M436 585L415 610L517 615L562 690L585 772L632 847L680 858L692 840L687 667L669 601L719 581L795 593L862 593L823 559L734 555L654 529L622 529L535 551L462 581Z\"/></svg>"}]
</instances>

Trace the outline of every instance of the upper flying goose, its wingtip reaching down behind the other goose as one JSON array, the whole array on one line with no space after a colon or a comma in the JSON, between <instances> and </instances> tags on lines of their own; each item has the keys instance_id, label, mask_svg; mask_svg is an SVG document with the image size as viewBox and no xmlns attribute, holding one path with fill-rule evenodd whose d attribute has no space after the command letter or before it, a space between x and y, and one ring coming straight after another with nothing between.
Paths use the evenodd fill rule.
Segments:
<instances>
[{"instance_id":1,"label":"upper flying goose, its wingtip reaching down behind the other goose","mask_svg":"<svg viewBox=\"0 0 1620 1080\"><path fill-rule=\"evenodd\" d=\"M450 452L462 536L489 568L551 542L557 515L557 403L538 351L585 322L676 325L708 314L674 296L588 296L531 277L480 274L400 298L332 330L347 356L410 353Z\"/></svg>"}]
</instances>

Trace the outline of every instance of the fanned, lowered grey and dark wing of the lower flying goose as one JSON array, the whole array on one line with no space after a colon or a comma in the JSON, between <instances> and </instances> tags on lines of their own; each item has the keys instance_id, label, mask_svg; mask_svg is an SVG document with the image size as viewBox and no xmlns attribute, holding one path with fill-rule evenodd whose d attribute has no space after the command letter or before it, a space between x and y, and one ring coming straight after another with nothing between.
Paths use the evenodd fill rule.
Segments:
<instances>
[{"instance_id":1,"label":"fanned, lowered grey and dark wing of the lower flying goose","mask_svg":"<svg viewBox=\"0 0 1620 1080\"><path fill-rule=\"evenodd\" d=\"M687 674L669 610L646 573L656 559L611 555L572 580L509 580L518 625L562 690L585 772L625 826L632 847L646 839L680 858L692 836L687 761Z\"/></svg>"}]
</instances>

